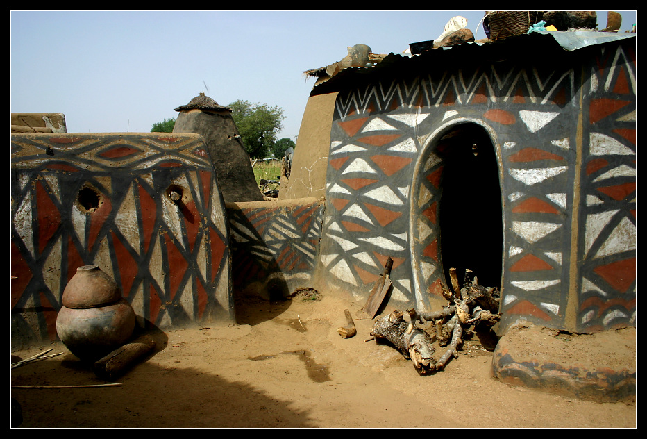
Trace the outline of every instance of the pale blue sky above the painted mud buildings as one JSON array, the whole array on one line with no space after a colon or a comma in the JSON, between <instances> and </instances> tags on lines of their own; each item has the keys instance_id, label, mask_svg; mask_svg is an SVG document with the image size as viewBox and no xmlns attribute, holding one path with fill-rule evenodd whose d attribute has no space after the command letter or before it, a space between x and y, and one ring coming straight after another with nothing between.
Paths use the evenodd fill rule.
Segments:
<instances>
[{"instance_id":1,"label":"pale blue sky above the painted mud buildings","mask_svg":"<svg viewBox=\"0 0 647 439\"><path fill-rule=\"evenodd\" d=\"M607 11L596 11L605 28ZM636 11L617 11L620 32ZM63 113L69 133L147 133L201 92L283 108L296 141L314 78L347 47L401 53L485 11L11 11L11 113Z\"/></svg>"}]
</instances>

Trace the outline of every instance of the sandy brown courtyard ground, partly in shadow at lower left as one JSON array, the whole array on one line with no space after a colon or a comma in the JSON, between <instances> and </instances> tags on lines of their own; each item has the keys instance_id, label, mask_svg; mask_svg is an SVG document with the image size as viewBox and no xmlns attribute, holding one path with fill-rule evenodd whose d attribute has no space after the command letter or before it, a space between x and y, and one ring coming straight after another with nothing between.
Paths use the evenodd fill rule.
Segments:
<instances>
[{"instance_id":1,"label":"sandy brown courtyard ground, partly in shadow at lower left","mask_svg":"<svg viewBox=\"0 0 647 439\"><path fill-rule=\"evenodd\" d=\"M121 386L12 388L19 426L637 426L635 404L600 404L497 381L492 354L476 337L445 370L420 376L390 345L365 341L373 321L358 317L363 304L311 298L239 299L237 324L153 334L156 350L116 380ZM337 333L346 323L344 308L355 317L353 338ZM14 351L12 363L50 348L49 354L63 354L12 369L12 386L106 383L60 342ZM442 351L437 347L437 358Z\"/></svg>"}]
</instances>

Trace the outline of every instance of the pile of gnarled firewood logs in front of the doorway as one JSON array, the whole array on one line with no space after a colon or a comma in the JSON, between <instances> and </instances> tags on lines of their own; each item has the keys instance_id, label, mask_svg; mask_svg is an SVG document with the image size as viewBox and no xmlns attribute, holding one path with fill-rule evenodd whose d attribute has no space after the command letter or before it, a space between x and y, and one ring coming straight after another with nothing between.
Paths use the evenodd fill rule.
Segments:
<instances>
[{"instance_id":1,"label":"pile of gnarled firewood logs in front of the doorway","mask_svg":"<svg viewBox=\"0 0 647 439\"><path fill-rule=\"evenodd\" d=\"M479 338L492 338L492 326L501 318L496 288L479 285L476 276L470 281L471 270L466 270L464 286L459 288L456 270L452 268L449 272L454 292L443 287L443 296L448 304L442 310L423 313L410 308L406 310L408 322L404 318L405 313L394 310L376 320L371 330L376 342L389 341L413 362L420 374L442 370L451 358L456 358L462 338L471 326ZM417 326L418 322L433 322L435 333L430 335ZM435 348L432 345L435 341L441 347L449 345L437 360L433 356Z\"/></svg>"}]
</instances>

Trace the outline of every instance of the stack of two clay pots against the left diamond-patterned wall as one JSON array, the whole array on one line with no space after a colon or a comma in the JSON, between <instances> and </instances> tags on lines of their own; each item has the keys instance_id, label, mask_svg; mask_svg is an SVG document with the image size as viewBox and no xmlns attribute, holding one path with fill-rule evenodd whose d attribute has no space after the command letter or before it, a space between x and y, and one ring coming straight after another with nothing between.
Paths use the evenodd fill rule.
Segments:
<instances>
[{"instance_id":1,"label":"stack of two clay pots against the left diamond-patterned wall","mask_svg":"<svg viewBox=\"0 0 647 439\"><path fill-rule=\"evenodd\" d=\"M72 354L96 361L123 345L135 329L135 311L119 285L97 265L84 265L65 287L56 317L58 338Z\"/></svg>"}]
</instances>

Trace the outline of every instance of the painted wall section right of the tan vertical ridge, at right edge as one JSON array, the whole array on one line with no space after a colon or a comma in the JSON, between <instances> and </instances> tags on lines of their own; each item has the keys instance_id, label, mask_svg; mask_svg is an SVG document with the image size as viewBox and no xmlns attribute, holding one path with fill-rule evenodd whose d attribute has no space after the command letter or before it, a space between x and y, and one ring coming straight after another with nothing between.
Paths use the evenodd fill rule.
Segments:
<instances>
[{"instance_id":1,"label":"painted wall section right of the tan vertical ridge, at right edge","mask_svg":"<svg viewBox=\"0 0 647 439\"><path fill-rule=\"evenodd\" d=\"M582 331L636 324L635 47L601 47L586 73L578 245Z\"/></svg>"}]
</instances>

